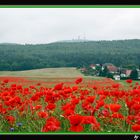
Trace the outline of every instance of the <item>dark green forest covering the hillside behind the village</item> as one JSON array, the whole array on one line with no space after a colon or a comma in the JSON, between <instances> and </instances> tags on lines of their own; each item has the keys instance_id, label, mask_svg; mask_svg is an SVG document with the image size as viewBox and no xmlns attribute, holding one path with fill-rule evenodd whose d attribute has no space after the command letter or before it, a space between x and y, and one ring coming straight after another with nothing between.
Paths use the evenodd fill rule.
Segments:
<instances>
[{"instance_id":1,"label":"dark green forest covering the hillside behind the village","mask_svg":"<svg viewBox=\"0 0 140 140\"><path fill-rule=\"evenodd\" d=\"M113 63L140 65L140 40L0 44L0 70L82 67Z\"/></svg>"}]
</instances>

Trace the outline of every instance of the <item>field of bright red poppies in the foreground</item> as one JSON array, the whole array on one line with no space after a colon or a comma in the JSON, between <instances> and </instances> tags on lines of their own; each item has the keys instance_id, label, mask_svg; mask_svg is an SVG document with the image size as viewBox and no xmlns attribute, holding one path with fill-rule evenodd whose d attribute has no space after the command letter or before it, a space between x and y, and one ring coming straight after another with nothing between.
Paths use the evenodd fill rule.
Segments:
<instances>
[{"instance_id":1,"label":"field of bright red poppies in the foreground","mask_svg":"<svg viewBox=\"0 0 140 140\"><path fill-rule=\"evenodd\" d=\"M0 77L0 132L139 132L140 84Z\"/></svg>"}]
</instances>

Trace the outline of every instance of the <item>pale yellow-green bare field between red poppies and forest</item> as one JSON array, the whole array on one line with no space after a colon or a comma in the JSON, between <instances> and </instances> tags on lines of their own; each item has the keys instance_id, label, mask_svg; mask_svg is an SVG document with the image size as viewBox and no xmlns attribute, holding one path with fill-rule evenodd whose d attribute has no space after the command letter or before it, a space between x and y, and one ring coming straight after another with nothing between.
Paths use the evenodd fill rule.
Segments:
<instances>
[{"instance_id":1,"label":"pale yellow-green bare field between red poppies and forest","mask_svg":"<svg viewBox=\"0 0 140 140\"><path fill-rule=\"evenodd\" d=\"M84 76L79 70L71 68L45 68L26 71L0 71L0 76L18 76L18 77L44 77L44 78L95 78L99 77ZM100 79L100 78L99 78Z\"/></svg>"}]
</instances>

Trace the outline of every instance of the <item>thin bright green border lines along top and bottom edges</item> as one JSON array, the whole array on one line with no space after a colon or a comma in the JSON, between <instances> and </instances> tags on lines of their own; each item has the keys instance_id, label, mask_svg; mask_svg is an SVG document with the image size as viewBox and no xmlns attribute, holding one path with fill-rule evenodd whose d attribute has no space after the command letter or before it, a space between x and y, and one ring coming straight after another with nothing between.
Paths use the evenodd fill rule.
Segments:
<instances>
[{"instance_id":1,"label":"thin bright green border lines along top and bottom edges","mask_svg":"<svg viewBox=\"0 0 140 140\"><path fill-rule=\"evenodd\" d=\"M0 5L0 8L140 8L140 5ZM75 132L39 132L39 133L16 133L16 132L0 132L0 135L136 135L140 132L129 133L112 133L112 132L97 132L97 133L75 133Z\"/></svg>"}]
</instances>

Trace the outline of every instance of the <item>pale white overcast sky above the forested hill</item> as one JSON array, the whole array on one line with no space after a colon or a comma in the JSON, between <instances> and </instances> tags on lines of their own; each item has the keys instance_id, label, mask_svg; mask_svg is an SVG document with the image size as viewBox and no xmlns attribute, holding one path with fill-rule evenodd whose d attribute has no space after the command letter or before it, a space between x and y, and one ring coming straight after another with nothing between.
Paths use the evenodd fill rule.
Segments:
<instances>
[{"instance_id":1,"label":"pale white overcast sky above the forested hill","mask_svg":"<svg viewBox=\"0 0 140 140\"><path fill-rule=\"evenodd\" d=\"M0 8L0 43L140 39L139 8Z\"/></svg>"}]
</instances>

